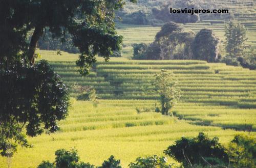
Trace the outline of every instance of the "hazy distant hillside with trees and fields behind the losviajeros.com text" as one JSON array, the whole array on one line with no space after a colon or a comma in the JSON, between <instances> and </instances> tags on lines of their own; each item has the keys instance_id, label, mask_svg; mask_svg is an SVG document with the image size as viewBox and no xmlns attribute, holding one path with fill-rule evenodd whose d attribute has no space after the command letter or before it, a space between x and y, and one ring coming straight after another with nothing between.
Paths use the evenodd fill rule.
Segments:
<instances>
[{"instance_id":1,"label":"hazy distant hillside with trees and fields behind the losviajeros.com text","mask_svg":"<svg viewBox=\"0 0 256 168\"><path fill-rule=\"evenodd\" d=\"M187 15L169 14L169 8L187 8L187 9L228 9L228 14L199 14L198 18L193 15L193 19L186 19ZM121 17L122 23L126 24L152 24L159 25L167 21L198 22L204 20L229 20L237 19L240 21L255 20L255 1L253 0L138 0L137 4L127 1L125 7L117 12ZM118 20L118 19L117 19Z\"/></svg>"}]
</instances>

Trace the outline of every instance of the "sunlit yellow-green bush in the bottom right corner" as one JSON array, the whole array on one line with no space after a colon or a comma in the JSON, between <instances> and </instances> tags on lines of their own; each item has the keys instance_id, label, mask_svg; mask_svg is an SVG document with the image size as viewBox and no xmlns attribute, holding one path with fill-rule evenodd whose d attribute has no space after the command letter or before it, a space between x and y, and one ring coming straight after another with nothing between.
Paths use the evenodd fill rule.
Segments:
<instances>
[{"instance_id":1,"label":"sunlit yellow-green bush in the bottom right corner","mask_svg":"<svg viewBox=\"0 0 256 168\"><path fill-rule=\"evenodd\" d=\"M234 136L226 151L232 167L255 167L256 139L253 136Z\"/></svg>"}]
</instances>

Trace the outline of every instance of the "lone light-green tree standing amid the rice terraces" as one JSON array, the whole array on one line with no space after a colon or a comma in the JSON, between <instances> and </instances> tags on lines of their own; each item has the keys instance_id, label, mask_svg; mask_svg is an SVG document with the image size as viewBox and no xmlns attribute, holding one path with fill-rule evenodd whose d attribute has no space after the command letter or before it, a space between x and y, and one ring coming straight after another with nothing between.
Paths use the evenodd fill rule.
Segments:
<instances>
[{"instance_id":1,"label":"lone light-green tree standing amid the rice terraces","mask_svg":"<svg viewBox=\"0 0 256 168\"><path fill-rule=\"evenodd\" d=\"M174 80L174 75L166 70L161 70L161 73L155 74L153 85L155 91L160 94L161 113L169 115L169 110L177 103L180 98L180 90L177 89L177 82Z\"/></svg>"}]
</instances>

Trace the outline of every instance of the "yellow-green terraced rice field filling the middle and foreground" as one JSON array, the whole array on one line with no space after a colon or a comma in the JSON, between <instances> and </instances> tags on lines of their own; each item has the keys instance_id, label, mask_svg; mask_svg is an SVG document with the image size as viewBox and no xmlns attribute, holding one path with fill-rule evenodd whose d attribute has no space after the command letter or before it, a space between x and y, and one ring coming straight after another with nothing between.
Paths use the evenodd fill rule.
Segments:
<instances>
[{"instance_id":1,"label":"yellow-green terraced rice field filling the middle and foreground","mask_svg":"<svg viewBox=\"0 0 256 168\"><path fill-rule=\"evenodd\" d=\"M59 148L78 149L81 160L100 165L110 155L127 165L138 156L163 155L182 136L206 132L227 143L234 134L256 135L256 71L203 61L131 61L99 58L88 77L80 77L76 54L40 51L67 85L92 86L98 102L71 99L72 107L61 130L29 138L32 149L19 149L12 167L35 167L54 160ZM137 107L153 107L158 96L149 92L153 74L173 71L181 89L174 117L159 113L137 114ZM71 89L71 96L79 93ZM0 167L7 167L0 159Z\"/></svg>"}]
</instances>

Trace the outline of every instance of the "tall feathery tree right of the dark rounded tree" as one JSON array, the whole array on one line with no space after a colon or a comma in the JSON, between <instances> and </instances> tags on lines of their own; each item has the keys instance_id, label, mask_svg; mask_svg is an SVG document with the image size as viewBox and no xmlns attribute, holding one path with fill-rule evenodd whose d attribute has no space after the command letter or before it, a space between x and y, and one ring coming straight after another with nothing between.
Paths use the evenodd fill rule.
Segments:
<instances>
[{"instance_id":1,"label":"tall feathery tree right of the dark rounded tree","mask_svg":"<svg viewBox=\"0 0 256 168\"><path fill-rule=\"evenodd\" d=\"M245 41L248 39L245 26L236 21L229 21L225 26L225 37L228 57L244 57Z\"/></svg>"}]
</instances>

